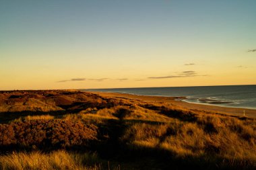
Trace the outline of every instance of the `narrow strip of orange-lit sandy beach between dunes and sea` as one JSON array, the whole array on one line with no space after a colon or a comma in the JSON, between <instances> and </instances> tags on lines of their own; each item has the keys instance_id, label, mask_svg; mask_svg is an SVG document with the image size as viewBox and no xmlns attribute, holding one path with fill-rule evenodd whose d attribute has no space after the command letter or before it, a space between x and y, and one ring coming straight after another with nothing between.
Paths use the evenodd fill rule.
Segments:
<instances>
[{"instance_id":1,"label":"narrow strip of orange-lit sandy beach between dunes and sea","mask_svg":"<svg viewBox=\"0 0 256 170\"><path fill-rule=\"evenodd\" d=\"M153 95L134 95L129 93L117 93L117 92L102 92L102 91L83 91L87 93L94 93L102 97L118 97L125 99L152 101L158 103L167 103L178 108L184 108L187 110L195 111L200 110L203 112L211 112L217 114L226 114L229 116L245 116L250 118L256 118L256 110L249 108L231 108L226 106L207 105L203 103L191 103L183 101L186 97L165 97L165 96L153 96Z\"/></svg>"}]
</instances>

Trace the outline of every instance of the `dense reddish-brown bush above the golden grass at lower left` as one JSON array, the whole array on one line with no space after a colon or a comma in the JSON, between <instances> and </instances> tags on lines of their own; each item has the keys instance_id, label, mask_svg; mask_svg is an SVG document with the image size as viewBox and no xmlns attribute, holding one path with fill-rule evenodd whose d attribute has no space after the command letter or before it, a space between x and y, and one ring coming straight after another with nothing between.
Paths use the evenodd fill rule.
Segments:
<instances>
[{"instance_id":1,"label":"dense reddish-brown bush above the golden grass at lower left","mask_svg":"<svg viewBox=\"0 0 256 170\"><path fill-rule=\"evenodd\" d=\"M96 140L94 125L67 120L29 120L0 124L0 146L77 146Z\"/></svg>"}]
</instances>

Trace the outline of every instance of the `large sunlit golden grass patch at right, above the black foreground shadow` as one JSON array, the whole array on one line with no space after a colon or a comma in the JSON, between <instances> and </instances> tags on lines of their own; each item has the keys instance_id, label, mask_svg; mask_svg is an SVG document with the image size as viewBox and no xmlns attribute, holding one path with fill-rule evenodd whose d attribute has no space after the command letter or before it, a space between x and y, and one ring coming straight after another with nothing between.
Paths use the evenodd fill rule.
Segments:
<instances>
[{"instance_id":1,"label":"large sunlit golden grass patch at right, above the black foreground shadow","mask_svg":"<svg viewBox=\"0 0 256 170\"><path fill-rule=\"evenodd\" d=\"M168 123L129 126L123 140L135 148L170 151L176 157L226 160L234 165L256 165L255 120L203 116L196 122L172 119Z\"/></svg>"}]
</instances>

